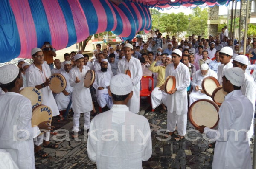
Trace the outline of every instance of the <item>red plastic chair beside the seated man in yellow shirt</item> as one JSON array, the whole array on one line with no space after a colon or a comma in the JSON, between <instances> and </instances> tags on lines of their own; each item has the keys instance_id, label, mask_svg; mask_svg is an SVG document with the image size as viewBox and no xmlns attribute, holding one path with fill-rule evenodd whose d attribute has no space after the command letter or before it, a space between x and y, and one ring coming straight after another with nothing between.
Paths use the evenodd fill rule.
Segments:
<instances>
[{"instance_id":1,"label":"red plastic chair beside the seated man in yellow shirt","mask_svg":"<svg viewBox=\"0 0 256 169\"><path fill-rule=\"evenodd\" d=\"M149 87L149 84L150 84L149 79L151 79L151 87ZM154 79L151 76L142 76L140 80L140 85L141 85L140 97L147 97L148 102L151 104L150 94L154 89Z\"/></svg>"}]
</instances>

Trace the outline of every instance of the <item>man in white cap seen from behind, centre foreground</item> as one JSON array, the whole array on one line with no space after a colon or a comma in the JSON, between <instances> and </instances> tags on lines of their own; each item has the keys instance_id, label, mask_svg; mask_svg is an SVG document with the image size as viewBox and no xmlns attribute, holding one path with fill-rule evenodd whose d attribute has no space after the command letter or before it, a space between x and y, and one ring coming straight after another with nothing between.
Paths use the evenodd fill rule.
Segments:
<instances>
[{"instance_id":1,"label":"man in white cap seen from behind, centre foreground","mask_svg":"<svg viewBox=\"0 0 256 169\"><path fill-rule=\"evenodd\" d=\"M132 90L133 82L128 75L113 76L108 90L113 107L91 121L87 152L98 169L142 169L142 161L151 157L148 120L129 111L127 106Z\"/></svg>"}]
</instances>

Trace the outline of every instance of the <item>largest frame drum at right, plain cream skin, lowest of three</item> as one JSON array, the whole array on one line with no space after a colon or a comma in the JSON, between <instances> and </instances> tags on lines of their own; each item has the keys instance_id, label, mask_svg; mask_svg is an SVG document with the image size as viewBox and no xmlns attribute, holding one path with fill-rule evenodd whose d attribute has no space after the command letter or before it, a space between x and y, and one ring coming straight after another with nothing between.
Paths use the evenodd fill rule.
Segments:
<instances>
[{"instance_id":1,"label":"largest frame drum at right, plain cream skin, lowest of three","mask_svg":"<svg viewBox=\"0 0 256 169\"><path fill-rule=\"evenodd\" d=\"M208 99L197 100L189 107L189 121L198 129L199 126L214 128L218 125L219 107Z\"/></svg>"}]
</instances>

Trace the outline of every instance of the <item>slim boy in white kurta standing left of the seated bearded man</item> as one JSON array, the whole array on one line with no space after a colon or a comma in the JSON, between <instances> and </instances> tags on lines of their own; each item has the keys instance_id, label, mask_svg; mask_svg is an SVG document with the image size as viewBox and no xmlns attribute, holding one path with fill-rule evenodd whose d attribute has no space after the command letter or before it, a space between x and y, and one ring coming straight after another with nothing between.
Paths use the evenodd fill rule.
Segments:
<instances>
[{"instance_id":1,"label":"slim boy in white kurta standing left of the seated bearded man","mask_svg":"<svg viewBox=\"0 0 256 169\"><path fill-rule=\"evenodd\" d=\"M84 87L84 76L89 70L88 66L84 66L84 56L76 54L74 56L76 66L70 70L70 86L73 87L72 104L73 104L73 132L77 137L79 131L80 114L84 113L84 129L89 130L90 127L90 111L93 110L93 101L90 89Z\"/></svg>"}]
</instances>

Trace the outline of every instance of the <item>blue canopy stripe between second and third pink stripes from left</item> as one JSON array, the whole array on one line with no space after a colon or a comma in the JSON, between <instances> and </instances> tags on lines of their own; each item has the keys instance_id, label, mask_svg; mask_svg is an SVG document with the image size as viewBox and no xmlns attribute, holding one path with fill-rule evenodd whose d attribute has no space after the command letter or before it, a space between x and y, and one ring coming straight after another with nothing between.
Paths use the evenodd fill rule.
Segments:
<instances>
[{"instance_id":1,"label":"blue canopy stripe between second and third pink stripes from left","mask_svg":"<svg viewBox=\"0 0 256 169\"><path fill-rule=\"evenodd\" d=\"M74 18L72 15L72 11L70 9L70 5L67 0L58 0L58 3L61 7L62 13L66 20L67 31L68 31L68 43L67 47L76 43L76 28L74 25Z\"/></svg>"}]
</instances>

